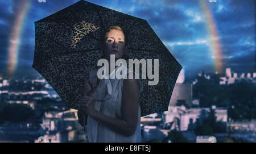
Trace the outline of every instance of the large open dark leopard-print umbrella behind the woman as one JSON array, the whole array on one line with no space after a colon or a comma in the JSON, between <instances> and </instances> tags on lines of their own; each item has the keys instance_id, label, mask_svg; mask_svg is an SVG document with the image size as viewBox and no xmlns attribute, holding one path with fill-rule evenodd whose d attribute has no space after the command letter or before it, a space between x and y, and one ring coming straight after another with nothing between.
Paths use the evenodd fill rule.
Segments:
<instances>
[{"instance_id":1,"label":"large open dark leopard-print umbrella behind the woman","mask_svg":"<svg viewBox=\"0 0 256 154\"><path fill-rule=\"evenodd\" d=\"M101 33L113 25L122 27L129 37L128 59L159 59L158 85L148 86L148 79L141 80L141 116L168 110L182 66L148 22L135 16L79 1L40 19L35 22L32 67L55 89L68 108L78 109L89 72L97 69L97 61L102 58Z\"/></svg>"}]
</instances>

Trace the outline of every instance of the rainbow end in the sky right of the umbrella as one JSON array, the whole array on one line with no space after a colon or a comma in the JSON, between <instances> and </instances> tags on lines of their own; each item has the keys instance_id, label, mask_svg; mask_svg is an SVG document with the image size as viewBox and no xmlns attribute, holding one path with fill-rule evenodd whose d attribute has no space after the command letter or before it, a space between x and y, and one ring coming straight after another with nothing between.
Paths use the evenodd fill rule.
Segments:
<instances>
[{"instance_id":1,"label":"rainbow end in the sky right of the umbrella","mask_svg":"<svg viewBox=\"0 0 256 154\"><path fill-rule=\"evenodd\" d=\"M216 72L222 73L222 52L221 52L221 43L220 36L218 35L218 31L216 28L216 23L214 22L214 18L212 12L209 9L208 1L200 0L200 6L203 10L206 19L207 30L209 33L210 40L210 50L212 51L213 59L214 59L214 67Z\"/></svg>"}]
</instances>

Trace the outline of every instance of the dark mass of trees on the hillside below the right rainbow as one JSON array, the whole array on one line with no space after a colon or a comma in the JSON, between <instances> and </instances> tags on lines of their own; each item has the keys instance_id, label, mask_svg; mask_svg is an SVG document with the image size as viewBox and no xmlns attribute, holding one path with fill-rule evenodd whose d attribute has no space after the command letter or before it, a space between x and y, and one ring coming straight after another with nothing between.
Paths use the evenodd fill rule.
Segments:
<instances>
[{"instance_id":1,"label":"dark mass of trees on the hillside below the right rainbow","mask_svg":"<svg viewBox=\"0 0 256 154\"><path fill-rule=\"evenodd\" d=\"M228 116L233 120L256 119L256 86L246 80L234 84L219 85L218 76L208 80L204 72L193 85L193 98L200 99L200 107L228 107Z\"/></svg>"}]
</instances>

